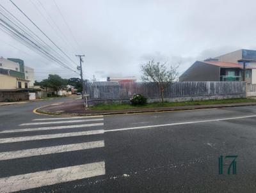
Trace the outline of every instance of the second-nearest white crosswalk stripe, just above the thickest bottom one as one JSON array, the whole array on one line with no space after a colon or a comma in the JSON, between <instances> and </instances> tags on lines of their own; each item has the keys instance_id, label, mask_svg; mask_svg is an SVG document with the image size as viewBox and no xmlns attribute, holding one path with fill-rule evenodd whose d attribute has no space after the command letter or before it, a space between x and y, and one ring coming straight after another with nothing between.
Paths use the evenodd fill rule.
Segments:
<instances>
[{"instance_id":1,"label":"second-nearest white crosswalk stripe, just above the thickest bottom one","mask_svg":"<svg viewBox=\"0 0 256 193\"><path fill-rule=\"evenodd\" d=\"M88 150L88 149L103 148L103 147L104 147L104 141L90 141L86 143L65 144L61 146L34 148L29 150L8 151L8 152L0 153L0 160L10 160L14 158L32 157L36 155L47 155L52 153Z\"/></svg>"}]
</instances>

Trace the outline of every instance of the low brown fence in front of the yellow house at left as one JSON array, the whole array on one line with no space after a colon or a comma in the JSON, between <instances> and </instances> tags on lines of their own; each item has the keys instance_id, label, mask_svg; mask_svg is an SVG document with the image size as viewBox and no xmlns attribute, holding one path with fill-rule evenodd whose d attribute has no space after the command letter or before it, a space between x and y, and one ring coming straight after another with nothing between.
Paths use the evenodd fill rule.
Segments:
<instances>
[{"instance_id":1,"label":"low brown fence in front of the yellow house at left","mask_svg":"<svg viewBox=\"0 0 256 193\"><path fill-rule=\"evenodd\" d=\"M0 102L15 102L20 100L29 100L29 93L0 92Z\"/></svg>"}]
</instances>

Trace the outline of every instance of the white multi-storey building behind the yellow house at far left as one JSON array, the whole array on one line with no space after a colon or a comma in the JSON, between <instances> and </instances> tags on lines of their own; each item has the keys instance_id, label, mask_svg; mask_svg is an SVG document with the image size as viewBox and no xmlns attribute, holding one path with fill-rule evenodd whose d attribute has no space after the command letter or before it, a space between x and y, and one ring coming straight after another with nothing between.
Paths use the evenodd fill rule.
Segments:
<instances>
[{"instance_id":1,"label":"white multi-storey building behind the yellow house at far left","mask_svg":"<svg viewBox=\"0 0 256 193\"><path fill-rule=\"evenodd\" d=\"M22 60L20 60L20 61L22 61ZM23 61L22 61L22 63L23 63ZM0 58L0 69L1 68L4 70L13 70L13 71L17 72L17 74L19 74L19 78L21 78L20 75L22 75L22 79L29 81L29 88L32 88L34 86L35 72L34 72L33 68L24 66L24 69L21 69L21 68L23 68L22 65L20 65L17 62L11 61L10 59L5 59L3 57ZM15 74L15 73L13 73L13 74Z\"/></svg>"}]
</instances>

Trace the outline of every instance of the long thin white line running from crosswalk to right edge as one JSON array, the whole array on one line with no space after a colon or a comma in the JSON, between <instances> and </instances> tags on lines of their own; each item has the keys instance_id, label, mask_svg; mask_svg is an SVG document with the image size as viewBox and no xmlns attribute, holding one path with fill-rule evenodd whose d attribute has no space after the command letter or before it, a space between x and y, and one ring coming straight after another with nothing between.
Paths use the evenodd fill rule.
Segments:
<instances>
[{"instance_id":1,"label":"long thin white line running from crosswalk to right edge","mask_svg":"<svg viewBox=\"0 0 256 193\"><path fill-rule=\"evenodd\" d=\"M202 120L202 121L189 121L189 122L182 122L182 123L168 123L163 125L146 125L141 127L129 127L129 128L116 128L110 130L104 130L104 132L118 132L122 130L134 130L134 129L142 129L142 128L155 128L155 127L166 127L172 125L186 125L186 124L193 124L193 123L207 123L207 122L214 122L214 121L226 121L226 120L238 120L244 118L254 118L256 115L249 115L249 116L238 116L234 118L223 118L223 119L216 119L216 120Z\"/></svg>"}]
</instances>

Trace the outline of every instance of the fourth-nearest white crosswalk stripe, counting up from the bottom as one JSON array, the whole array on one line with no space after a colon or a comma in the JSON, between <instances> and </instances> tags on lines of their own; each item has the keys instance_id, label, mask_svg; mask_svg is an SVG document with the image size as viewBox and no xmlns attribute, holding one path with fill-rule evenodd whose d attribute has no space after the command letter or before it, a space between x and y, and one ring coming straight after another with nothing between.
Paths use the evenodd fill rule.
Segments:
<instances>
[{"instance_id":1,"label":"fourth-nearest white crosswalk stripe, counting up from the bottom","mask_svg":"<svg viewBox=\"0 0 256 193\"><path fill-rule=\"evenodd\" d=\"M102 125L104 125L104 123L92 123L92 124L83 124L83 125L65 125L65 126L54 126L54 127L6 129L6 130L0 131L0 134L13 133L13 132L31 132L31 131L38 131L38 130L55 130L55 129L61 129L61 128L94 127L94 126L102 126Z\"/></svg>"}]
</instances>

